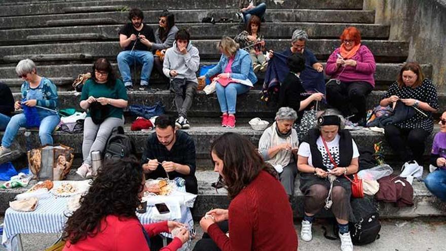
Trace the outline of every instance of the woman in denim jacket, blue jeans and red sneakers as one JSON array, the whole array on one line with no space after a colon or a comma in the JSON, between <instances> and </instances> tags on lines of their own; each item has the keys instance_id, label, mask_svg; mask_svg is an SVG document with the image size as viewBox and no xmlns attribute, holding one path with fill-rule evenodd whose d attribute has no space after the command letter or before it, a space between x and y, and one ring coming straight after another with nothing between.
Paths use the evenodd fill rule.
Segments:
<instances>
[{"instance_id":1,"label":"woman in denim jacket, blue jeans and red sneakers","mask_svg":"<svg viewBox=\"0 0 446 251\"><path fill-rule=\"evenodd\" d=\"M252 69L251 57L247 51L239 49L231 38L222 38L217 47L221 52L220 61L200 79L213 77L222 113L221 126L235 127L235 106L237 95L245 93L257 82Z\"/></svg>"}]
</instances>

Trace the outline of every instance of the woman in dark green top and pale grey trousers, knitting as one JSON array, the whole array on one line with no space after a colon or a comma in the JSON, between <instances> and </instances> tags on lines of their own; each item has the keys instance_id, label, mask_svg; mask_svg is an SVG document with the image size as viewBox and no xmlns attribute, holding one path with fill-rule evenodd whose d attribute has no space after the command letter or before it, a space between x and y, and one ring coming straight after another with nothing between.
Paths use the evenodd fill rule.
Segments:
<instances>
[{"instance_id":1,"label":"woman in dark green top and pale grey trousers, knitting","mask_svg":"<svg viewBox=\"0 0 446 251\"><path fill-rule=\"evenodd\" d=\"M85 178L95 175L91 168L91 152L103 152L112 129L124 125L123 110L128 97L124 84L116 78L110 62L99 58L93 64L93 76L82 88L80 106L88 110L84 121L82 155L84 163L76 173Z\"/></svg>"}]
</instances>

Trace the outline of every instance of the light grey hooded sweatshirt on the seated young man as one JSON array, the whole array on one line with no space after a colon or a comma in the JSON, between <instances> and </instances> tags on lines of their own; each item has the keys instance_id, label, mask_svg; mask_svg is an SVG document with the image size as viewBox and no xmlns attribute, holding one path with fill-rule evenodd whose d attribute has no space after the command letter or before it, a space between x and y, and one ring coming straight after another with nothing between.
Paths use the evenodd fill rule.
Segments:
<instances>
[{"instance_id":1,"label":"light grey hooded sweatshirt on the seated young man","mask_svg":"<svg viewBox=\"0 0 446 251\"><path fill-rule=\"evenodd\" d=\"M175 78L187 79L198 83L196 72L200 66L200 56L198 55L198 49L192 45L189 41L186 48L188 53L181 54L176 47L176 42L173 46L166 50L164 56L163 72L168 78L170 76L170 70L176 70L178 75Z\"/></svg>"}]
</instances>

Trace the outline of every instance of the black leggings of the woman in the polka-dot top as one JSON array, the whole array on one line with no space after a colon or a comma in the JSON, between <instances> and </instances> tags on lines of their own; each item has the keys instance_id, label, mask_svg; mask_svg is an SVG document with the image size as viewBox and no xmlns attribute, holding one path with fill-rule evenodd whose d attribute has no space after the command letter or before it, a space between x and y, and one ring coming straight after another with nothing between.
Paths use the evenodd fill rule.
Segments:
<instances>
[{"instance_id":1,"label":"black leggings of the woman in the polka-dot top","mask_svg":"<svg viewBox=\"0 0 446 251\"><path fill-rule=\"evenodd\" d=\"M390 124L384 129L384 134L387 143L400 160L416 160L419 165L423 164L425 141L429 132L422 129L402 129ZM406 146L411 152L407 151Z\"/></svg>"}]
</instances>

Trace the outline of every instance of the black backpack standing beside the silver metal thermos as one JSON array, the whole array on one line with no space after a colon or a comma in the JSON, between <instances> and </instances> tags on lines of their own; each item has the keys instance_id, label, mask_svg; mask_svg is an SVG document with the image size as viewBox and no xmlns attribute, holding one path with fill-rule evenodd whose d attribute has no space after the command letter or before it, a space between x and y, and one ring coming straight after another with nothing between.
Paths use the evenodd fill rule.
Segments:
<instances>
[{"instance_id":1,"label":"black backpack standing beside the silver metal thermos","mask_svg":"<svg viewBox=\"0 0 446 251\"><path fill-rule=\"evenodd\" d=\"M134 153L133 142L128 135L124 134L122 126L113 128L112 135L107 140L104 153L104 161L129 157Z\"/></svg>"}]
</instances>

